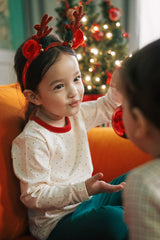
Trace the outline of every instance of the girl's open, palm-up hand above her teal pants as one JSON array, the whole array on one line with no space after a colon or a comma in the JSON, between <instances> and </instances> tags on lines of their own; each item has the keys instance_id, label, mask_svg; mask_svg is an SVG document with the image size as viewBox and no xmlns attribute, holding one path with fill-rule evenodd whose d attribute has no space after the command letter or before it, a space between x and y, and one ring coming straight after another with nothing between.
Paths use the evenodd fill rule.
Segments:
<instances>
[{"instance_id":1,"label":"girl's open, palm-up hand above her teal pants","mask_svg":"<svg viewBox=\"0 0 160 240\"><path fill-rule=\"evenodd\" d=\"M122 190L125 187L125 182L122 182L118 185L111 185L109 183L106 183L105 181L102 181L103 173L97 173L91 178L88 178L85 182L86 188L88 191L88 195L96 195L98 193L112 193L112 192L118 192Z\"/></svg>"}]
</instances>

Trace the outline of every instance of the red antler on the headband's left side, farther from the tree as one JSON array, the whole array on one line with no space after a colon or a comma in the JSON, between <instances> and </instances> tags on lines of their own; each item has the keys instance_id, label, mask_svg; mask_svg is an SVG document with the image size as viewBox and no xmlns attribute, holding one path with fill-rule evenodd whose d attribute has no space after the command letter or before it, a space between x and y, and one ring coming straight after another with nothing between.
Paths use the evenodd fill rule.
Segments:
<instances>
[{"instance_id":1,"label":"red antler on the headband's left side, farther from the tree","mask_svg":"<svg viewBox=\"0 0 160 240\"><path fill-rule=\"evenodd\" d=\"M48 17L48 14L45 14L41 20L40 24L36 24L34 28L37 30L37 34L33 35L32 38L36 40L37 42L47 36L51 31L52 27L48 29L47 24L52 20L52 16Z\"/></svg>"}]
</instances>

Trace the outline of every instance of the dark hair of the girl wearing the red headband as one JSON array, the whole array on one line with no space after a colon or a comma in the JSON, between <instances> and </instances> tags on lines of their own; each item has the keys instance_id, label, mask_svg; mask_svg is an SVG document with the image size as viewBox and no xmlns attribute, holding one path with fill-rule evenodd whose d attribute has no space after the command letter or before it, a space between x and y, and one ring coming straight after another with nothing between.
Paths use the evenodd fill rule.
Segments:
<instances>
[{"instance_id":1,"label":"dark hair of the girl wearing the red headband","mask_svg":"<svg viewBox=\"0 0 160 240\"><path fill-rule=\"evenodd\" d=\"M45 37L40 44L45 48L46 40L49 43L51 42L61 42L57 35L52 34ZM25 42L24 42L25 43ZM23 56L22 48L24 43L17 49L15 58L14 58L14 69L17 74L17 80L21 86L22 92L24 91L22 83L22 73L27 59ZM48 69L56 62L60 53L73 55L76 57L75 51L69 46L56 46L49 48L47 51L40 53L40 55L33 60L31 65L28 68L26 74L26 89L30 89L33 92L38 91L38 85L41 82L44 74ZM35 105L33 103L28 104L26 110L26 122L28 121L29 115L35 110Z\"/></svg>"}]
</instances>

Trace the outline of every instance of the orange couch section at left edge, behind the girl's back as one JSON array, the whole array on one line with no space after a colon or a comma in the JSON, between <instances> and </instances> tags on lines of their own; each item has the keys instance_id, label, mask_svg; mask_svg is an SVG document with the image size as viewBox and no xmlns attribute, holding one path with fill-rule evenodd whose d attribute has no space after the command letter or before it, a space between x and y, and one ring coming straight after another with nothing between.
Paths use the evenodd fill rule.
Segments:
<instances>
[{"instance_id":1,"label":"orange couch section at left edge, behind the girl's back","mask_svg":"<svg viewBox=\"0 0 160 240\"><path fill-rule=\"evenodd\" d=\"M18 84L0 86L0 239L3 240L15 239L28 229L10 154L12 140L24 123L24 107L25 98Z\"/></svg>"}]
</instances>

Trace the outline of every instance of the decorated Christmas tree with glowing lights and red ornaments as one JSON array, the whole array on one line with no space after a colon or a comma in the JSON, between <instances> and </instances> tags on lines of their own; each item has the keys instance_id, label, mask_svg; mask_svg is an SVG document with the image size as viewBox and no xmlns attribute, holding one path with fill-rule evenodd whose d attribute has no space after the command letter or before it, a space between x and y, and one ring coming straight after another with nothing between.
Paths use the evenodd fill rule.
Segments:
<instances>
[{"instance_id":1,"label":"decorated Christmas tree with glowing lights and red ornaments","mask_svg":"<svg viewBox=\"0 0 160 240\"><path fill-rule=\"evenodd\" d=\"M113 71L126 57L128 34L121 21L121 10L109 0L96 1L61 0L58 13L57 33L63 38L64 24L74 20L74 11L83 5L86 15L82 18L85 41L79 47L77 57L86 95L101 95L107 92ZM98 10L97 10L98 9Z\"/></svg>"}]
</instances>

